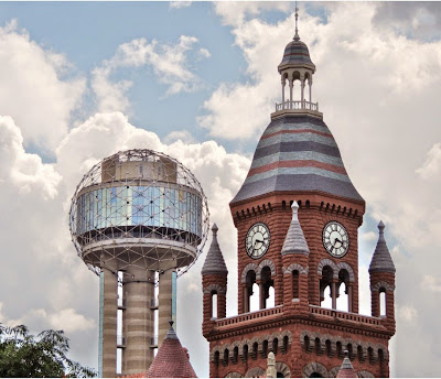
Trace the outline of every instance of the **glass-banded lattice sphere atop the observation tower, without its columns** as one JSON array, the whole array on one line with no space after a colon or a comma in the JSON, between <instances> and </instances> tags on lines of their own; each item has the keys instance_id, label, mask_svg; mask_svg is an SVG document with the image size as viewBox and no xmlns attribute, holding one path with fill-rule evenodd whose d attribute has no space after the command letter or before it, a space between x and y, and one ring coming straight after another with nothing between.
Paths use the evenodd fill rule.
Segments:
<instances>
[{"instance_id":1,"label":"glass-banded lattice sphere atop the observation tower, without its columns","mask_svg":"<svg viewBox=\"0 0 441 379\"><path fill-rule=\"evenodd\" d=\"M152 150L118 152L78 184L69 212L72 240L95 272L185 271L208 230L201 184L179 161Z\"/></svg>"}]
</instances>

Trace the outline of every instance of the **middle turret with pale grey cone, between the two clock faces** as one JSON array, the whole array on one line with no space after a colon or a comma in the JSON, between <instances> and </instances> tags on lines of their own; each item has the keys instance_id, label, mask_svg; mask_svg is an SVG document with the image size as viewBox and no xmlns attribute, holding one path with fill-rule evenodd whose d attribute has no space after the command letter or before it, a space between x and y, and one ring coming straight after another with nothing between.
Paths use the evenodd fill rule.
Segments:
<instances>
[{"instance_id":1,"label":"middle turret with pale grey cone, between the two clock faces","mask_svg":"<svg viewBox=\"0 0 441 379\"><path fill-rule=\"evenodd\" d=\"M292 203L292 220L282 246L283 303L302 305L308 312L308 261L310 249L299 223L299 205Z\"/></svg>"}]
</instances>

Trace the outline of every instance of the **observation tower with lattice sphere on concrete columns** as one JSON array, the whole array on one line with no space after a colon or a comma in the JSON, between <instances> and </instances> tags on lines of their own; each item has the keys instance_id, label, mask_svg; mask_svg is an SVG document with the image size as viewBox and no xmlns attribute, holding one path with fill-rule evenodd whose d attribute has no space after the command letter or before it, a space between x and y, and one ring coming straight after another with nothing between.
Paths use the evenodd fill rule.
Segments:
<instances>
[{"instance_id":1,"label":"observation tower with lattice sphere on concrete columns","mask_svg":"<svg viewBox=\"0 0 441 379\"><path fill-rule=\"evenodd\" d=\"M176 277L206 241L201 184L163 153L118 152L84 175L69 227L78 257L100 277L99 375L116 377L118 348L122 375L146 372L175 317Z\"/></svg>"}]
</instances>

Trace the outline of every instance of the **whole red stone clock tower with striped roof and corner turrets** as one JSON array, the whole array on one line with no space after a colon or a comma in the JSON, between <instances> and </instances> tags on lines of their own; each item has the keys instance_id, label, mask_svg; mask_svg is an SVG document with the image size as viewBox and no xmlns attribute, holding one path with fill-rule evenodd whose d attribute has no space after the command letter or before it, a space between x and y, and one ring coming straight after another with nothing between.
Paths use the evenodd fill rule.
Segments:
<instances>
[{"instance_id":1,"label":"whole red stone clock tower with striped roof and corner turrets","mask_svg":"<svg viewBox=\"0 0 441 379\"><path fill-rule=\"evenodd\" d=\"M365 202L312 102L315 65L297 28L278 71L282 102L230 203L238 238L238 316L225 317L227 270L217 228L202 272L209 375L261 377L272 351L278 377L335 377L347 350L358 377L388 377L395 267L384 225L369 267L373 312L365 316L358 314L357 241ZM295 82L299 100L292 97ZM343 295L345 310L337 310ZM331 307L324 307L325 297Z\"/></svg>"}]
</instances>

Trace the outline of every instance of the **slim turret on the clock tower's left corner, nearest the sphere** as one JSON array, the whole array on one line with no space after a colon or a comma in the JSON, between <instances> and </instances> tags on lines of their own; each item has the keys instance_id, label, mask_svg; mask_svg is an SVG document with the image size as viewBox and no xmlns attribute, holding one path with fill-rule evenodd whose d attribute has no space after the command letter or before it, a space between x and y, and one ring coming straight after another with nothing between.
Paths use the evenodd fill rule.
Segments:
<instances>
[{"instance_id":1,"label":"slim turret on the clock tower's left corner, nearest the sphere","mask_svg":"<svg viewBox=\"0 0 441 379\"><path fill-rule=\"evenodd\" d=\"M207 252L204 267L202 268L202 289L204 292L204 320L203 334L213 327L214 318L226 316L226 293L228 270L217 242L217 226L213 225L213 239Z\"/></svg>"}]
</instances>

